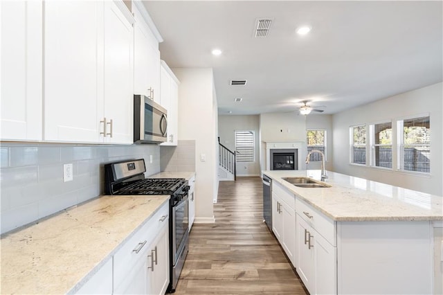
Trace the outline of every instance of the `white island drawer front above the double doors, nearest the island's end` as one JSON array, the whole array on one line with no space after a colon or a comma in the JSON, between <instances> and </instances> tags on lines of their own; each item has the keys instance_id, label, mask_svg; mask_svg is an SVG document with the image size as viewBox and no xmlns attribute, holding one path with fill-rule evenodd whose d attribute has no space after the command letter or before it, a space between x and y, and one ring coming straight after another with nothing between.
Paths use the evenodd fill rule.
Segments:
<instances>
[{"instance_id":1,"label":"white island drawer front above the double doors, nearest the island's end","mask_svg":"<svg viewBox=\"0 0 443 295\"><path fill-rule=\"evenodd\" d=\"M296 200L296 211L303 220L316 229L332 246L336 246L336 223L333 220L298 198Z\"/></svg>"}]
</instances>

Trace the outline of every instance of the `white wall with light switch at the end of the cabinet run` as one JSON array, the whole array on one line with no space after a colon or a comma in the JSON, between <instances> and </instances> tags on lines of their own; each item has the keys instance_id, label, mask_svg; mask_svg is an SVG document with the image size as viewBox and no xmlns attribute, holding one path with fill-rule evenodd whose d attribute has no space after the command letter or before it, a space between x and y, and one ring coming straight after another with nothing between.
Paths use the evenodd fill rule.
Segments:
<instances>
[{"instance_id":1,"label":"white wall with light switch at the end of the cabinet run","mask_svg":"<svg viewBox=\"0 0 443 295\"><path fill-rule=\"evenodd\" d=\"M179 139L195 140L195 222L213 222L213 200L217 199L218 186L213 70L177 68L172 71L180 80ZM205 161L201 161L202 156Z\"/></svg>"}]
</instances>

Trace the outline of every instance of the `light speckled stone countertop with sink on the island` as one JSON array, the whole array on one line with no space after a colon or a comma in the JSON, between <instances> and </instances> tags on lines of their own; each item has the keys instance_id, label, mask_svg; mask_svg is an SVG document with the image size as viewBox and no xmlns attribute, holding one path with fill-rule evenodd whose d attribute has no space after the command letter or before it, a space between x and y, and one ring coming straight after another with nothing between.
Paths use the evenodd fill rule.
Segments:
<instances>
[{"instance_id":1,"label":"light speckled stone countertop with sink on the island","mask_svg":"<svg viewBox=\"0 0 443 295\"><path fill-rule=\"evenodd\" d=\"M443 197L327 172L330 188L300 188L282 177L320 179L320 170L263 171L291 193L335 221L443 220Z\"/></svg>"}]
</instances>

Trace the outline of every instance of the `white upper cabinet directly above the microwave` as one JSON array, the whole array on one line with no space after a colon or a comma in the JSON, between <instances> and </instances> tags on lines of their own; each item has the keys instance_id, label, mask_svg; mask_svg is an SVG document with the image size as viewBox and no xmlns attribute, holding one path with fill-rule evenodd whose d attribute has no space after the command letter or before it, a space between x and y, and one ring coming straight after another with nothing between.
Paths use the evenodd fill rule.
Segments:
<instances>
[{"instance_id":1,"label":"white upper cabinet directly above the microwave","mask_svg":"<svg viewBox=\"0 0 443 295\"><path fill-rule=\"evenodd\" d=\"M143 94L160 104L160 51L163 41L143 4L132 6L134 24L134 94ZM151 24L149 26L148 24Z\"/></svg>"}]
</instances>

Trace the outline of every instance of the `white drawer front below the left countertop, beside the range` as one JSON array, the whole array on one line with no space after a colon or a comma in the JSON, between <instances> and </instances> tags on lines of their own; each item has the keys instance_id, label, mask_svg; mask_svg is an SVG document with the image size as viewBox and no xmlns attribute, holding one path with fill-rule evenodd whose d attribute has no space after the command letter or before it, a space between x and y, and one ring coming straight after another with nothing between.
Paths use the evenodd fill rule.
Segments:
<instances>
[{"instance_id":1,"label":"white drawer front below the left countertop, beside the range","mask_svg":"<svg viewBox=\"0 0 443 295\"><path fill-rule=\"evenodd\" d=\"M145 256L162 226L165 222L169 222L168 216L169 203L167 202L114 254L115 287L125 280L125 274L132 269L133 265Z\"/></svg>"}]
</instances>

